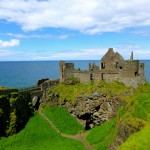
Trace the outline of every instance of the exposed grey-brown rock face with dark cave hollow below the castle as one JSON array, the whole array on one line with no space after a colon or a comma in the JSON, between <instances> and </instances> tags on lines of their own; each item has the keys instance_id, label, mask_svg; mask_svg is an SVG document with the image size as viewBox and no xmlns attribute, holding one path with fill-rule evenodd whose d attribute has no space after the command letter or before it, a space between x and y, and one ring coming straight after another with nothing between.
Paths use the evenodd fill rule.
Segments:
<instances>
[{"instance_id":1,"label":"exposed grey-brown rock face with dark cave hollow below the castle","mask_svg":"<svg viewBox=\"0 0 150 150\"><path fill-rule=\"evenodd\" d=\"M81 97L77 97L74 105L67 101L60 103L58 94L49 96L53 97L51 104L66 107L74 117L78 118L85 129L93 128L114 118L118 108L123 105L121 99L116 95L107 98L105 93L98 93L97 91L91 95L85 96L83 94Z\"/></svg>"}]
</instances>

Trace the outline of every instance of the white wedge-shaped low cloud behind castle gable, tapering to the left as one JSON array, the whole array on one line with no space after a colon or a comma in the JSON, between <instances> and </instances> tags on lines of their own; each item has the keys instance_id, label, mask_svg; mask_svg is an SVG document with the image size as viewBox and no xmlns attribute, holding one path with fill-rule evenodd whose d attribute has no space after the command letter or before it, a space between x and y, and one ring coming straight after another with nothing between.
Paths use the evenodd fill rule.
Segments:
<instances>
[{"instance_id":1,"label":"white wedge-shaped low cloud behind castle gable, tapering to the left","mask_svg":"<svg viewBox=\"0 0 150 150\"><path fill-rule=\"evenodd\" d=\"M135 49L136 47L136 49ZM150 52L143 49L139 45L129 44L128 47L115 47L114 52L119 52L125 60L130 59L131 52L134 52L135 59L149 59ZM83 49L76 51L64 51L55 52L53 54L45 54L34 57L34 60L101 60L101 58L108 51L108 48L93 48L93 49Z\"/></svg>"}]
</instances>

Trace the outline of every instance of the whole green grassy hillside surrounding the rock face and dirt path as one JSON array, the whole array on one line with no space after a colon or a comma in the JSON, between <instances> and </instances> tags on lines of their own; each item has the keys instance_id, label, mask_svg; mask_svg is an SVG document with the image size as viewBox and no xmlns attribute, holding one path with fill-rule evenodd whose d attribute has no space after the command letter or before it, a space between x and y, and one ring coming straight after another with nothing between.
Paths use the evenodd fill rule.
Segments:
<instances>
[{"instance_id":1,"label":"whole green grassy hillside surrounding the rock face and dirt path","mask_svg":"<svg viewBox=\"0 0 150 150\"><path fill-rule=\"evenodd\" d=\"M95 90L118 95L124 105L118 115L88 131L84 131L78 121L61 107L43 107L43 113L65 134L74 136L85 132L85 140L95 150L107 150L124 142L119 149L150 149L150 84L140 85L137 89L126 88L121 83L100 83L82 85L58 85L52 94L59 93L60 101L66 99L74 103L74 98L81 93L92 93ZM118 142L119 141L119 142ZM119 146L119 145L117 145ZM115 148L118 148L118 147ZM38 113L30 118L25 128L18 134L0 139L0 150L84 150L83 144L77 140L65 138L57 133Z\"/></svg>"}]
</instances>

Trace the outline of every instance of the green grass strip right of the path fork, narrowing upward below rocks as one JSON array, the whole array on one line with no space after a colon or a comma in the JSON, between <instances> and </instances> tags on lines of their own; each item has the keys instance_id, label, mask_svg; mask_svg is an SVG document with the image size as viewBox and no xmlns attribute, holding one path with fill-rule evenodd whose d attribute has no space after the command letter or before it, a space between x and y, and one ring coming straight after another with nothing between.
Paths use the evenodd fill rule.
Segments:
<instances>
[{"instance_id":1,"label":"green grass strip right of the path fork, narrowing upward below rocks","mask_svg":"<svg viewBox=\"0 0 150 150\"><path fill-rule=\"evenodd\" d=\"M124 107L120 107L118 115L114 119L89 130L89 134L86 136L88 143L96 150L107 150L118 133L119 120L124 114Z\"/></svg>"}]
</instances>

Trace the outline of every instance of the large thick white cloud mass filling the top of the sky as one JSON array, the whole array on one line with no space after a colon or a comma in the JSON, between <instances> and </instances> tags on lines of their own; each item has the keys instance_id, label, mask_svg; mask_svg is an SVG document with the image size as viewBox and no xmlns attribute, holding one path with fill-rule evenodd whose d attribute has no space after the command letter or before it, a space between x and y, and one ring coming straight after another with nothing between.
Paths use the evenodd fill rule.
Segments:
<instances>
[{"instance_id":1,"label":"large thick white cloud mass filling the top of the sky","mask_svg":"<svg viewBox=\"0 0 150 150\"><path fill-rule=\"evenodd\" d=\"M62 27L86 34L150 25L149 0L1 0L0 19L23 30Z\"/></svg>"}]
</instances>

